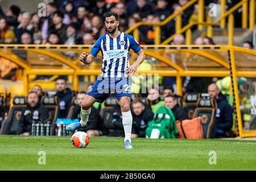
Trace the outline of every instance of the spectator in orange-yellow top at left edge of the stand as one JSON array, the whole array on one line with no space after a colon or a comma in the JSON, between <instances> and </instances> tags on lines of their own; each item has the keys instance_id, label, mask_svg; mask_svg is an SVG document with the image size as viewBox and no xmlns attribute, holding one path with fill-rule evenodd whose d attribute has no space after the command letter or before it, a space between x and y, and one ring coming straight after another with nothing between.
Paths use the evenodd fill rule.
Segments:
<instances>
[{"instance_id":1,"label":"spectator in orange-yellow top at left edge of the stand","mask_svg":"<svg viewBox=\"0 0 256 182\"><path fill-rule=\"evenodd\" d=\"M0 18L0 43L12 43L14 40L15 34L6 24L6 19Z\"/></svg>"}]
</instances>

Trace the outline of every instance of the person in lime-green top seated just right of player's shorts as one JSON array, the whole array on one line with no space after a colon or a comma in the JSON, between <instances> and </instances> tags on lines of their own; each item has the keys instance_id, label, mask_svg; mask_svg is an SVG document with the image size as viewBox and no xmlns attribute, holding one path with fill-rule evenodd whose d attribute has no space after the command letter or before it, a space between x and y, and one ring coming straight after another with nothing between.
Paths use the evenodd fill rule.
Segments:
<instances>
[{"instance_id":1,"label":"person in lime-green top seated just right of player's shorts","mask_svg":"<svg viewBox=\"0 0 256 182\"><path fill-rule=\"evenodd\" d=\"M164 106L164 101L160 100L159 90L156 88L152 88L148 90L148 101L150 102L151 110L155 114L159 107Z\"/></svg>"}]
</instances>

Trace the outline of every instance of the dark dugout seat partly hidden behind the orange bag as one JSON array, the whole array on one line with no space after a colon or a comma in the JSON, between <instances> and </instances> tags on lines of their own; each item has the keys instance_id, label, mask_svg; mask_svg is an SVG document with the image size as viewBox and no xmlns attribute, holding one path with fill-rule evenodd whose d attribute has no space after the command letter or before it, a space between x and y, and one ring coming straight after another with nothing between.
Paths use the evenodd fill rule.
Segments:
<instances>
[{"instance_id":1,"label":"dark dugout seat partly hidden behind the orange bag","mask_svg":"<svg viewBox=\"0 0 256 182\"><path fill-rule=\"evenodd\" d=\"M186 93L184 96L185 109L188 111L188 118L192 119L196 109L196 102L199 100L200 94L197 93Z\"/></svg>"}]
</instances>

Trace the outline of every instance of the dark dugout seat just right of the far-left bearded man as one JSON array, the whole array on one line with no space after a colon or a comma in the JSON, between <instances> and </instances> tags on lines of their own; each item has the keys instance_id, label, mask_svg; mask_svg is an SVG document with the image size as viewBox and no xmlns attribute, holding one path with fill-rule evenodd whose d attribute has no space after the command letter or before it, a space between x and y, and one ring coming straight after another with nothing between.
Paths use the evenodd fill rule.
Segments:
<instances>
[{"instance_id":1,"label":"dark dugout seat just right of the far-left bearded man","mask_svg":"<svg viewBox=\"0 0 256 182\"><path fill-rule=\"evenodd\" d=\"M55 123L57 115L59 114L59 98L56 96L44 96L42 98L42 104L48 109L48 119L51 120L52 123Z\"/></svg>"}]
</instances>

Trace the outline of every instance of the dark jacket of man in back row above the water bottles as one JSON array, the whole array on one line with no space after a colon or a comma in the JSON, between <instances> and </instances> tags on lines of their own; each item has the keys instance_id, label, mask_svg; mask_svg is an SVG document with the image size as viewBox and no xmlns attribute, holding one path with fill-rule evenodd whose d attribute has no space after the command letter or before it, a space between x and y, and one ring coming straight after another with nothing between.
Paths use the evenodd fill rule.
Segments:
<instances>
[{"instance_id":1,"label":"dark jacket of man in back row above the water bottles","mask_svg":"<svg viewBox=\"0 0 256 182\"><path fill-rule=\"evenodd\" d=\"M60 111L58 118L67 118L73 97L71 89L67 88L64 90L64 92L57 92L55 96L59 97L60 99Z\"/></svg>"}]
</instances>

